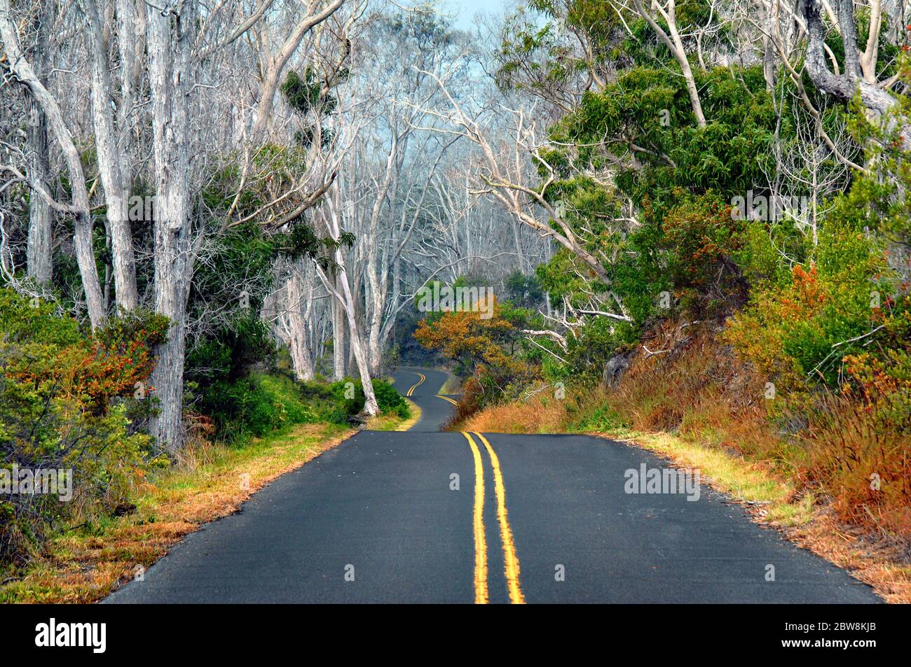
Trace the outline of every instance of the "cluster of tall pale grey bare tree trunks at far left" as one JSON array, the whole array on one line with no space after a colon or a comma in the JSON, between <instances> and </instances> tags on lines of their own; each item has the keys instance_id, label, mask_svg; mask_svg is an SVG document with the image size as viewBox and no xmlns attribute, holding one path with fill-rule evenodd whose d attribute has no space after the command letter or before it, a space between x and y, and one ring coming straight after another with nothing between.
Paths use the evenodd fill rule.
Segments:
<instances>
[{"instance_id":1,"label":"cluster of tall pale grey bare tree trunks at far left","mask_svg":"<svg viewBox=\"0 0 911 667\"><path fill-rule=\"evenodd\" d=\"M5 122L25 119L23 125L29 127L26 142L6 150L19 164L3 164L4 175L26 186L33 201L40 197L57 214L73 217L72 247L80 289L70 291L68 297L75 304L85 303L94 328L140 305L171 321L167 339L156 350L151 378L159 399L151 430L171 451L179 448L182 437L188 299L194 265L204 247L206 211L200 207L200 192L210 159L227 153L226 127L228 136L247 136L248 145L259 141L284 67L304 37L333 16L343 0L284 5L281 14L296 19L292 35L276 56L268 56L263 71L254 66L242 72L239 66L254 65L258 56L255 49L241 47L236 40L259 30L266 37L260 43L265 48L270 31L265 25L276 18L275 12L267 11L270 5L261 3L236 27L233 16L243 15L243 5L235 2L202 14L194 3L161 8L133 0L108 4L80 0L58 15L51 4L11 5L4 0L0 5L0 38L8 72L4 86L12 91L19 84L26 92L26 101L11 110L19 116L7 116ZM55 39L61 34L80 39ZM25 46L24 36L29 40ZM40 70L26 53L33 44ZM227 53L229 49L233 53ZM236 113L251 75L261 76L262 84L254 118ZM56 83L46 85L51 78ZM80 86L80 81L86 85ZM61 105L62 92L69 90L87 94L87 116L85 108ZM228 116L221 115L229 109ZM27 116L22 113L26 110ZM91 128L90 134L80 135L85 126ZM42 168L55 162L46 156L45 136L50 138L52 153L64 158L65 177ZM69 203L59 203L60 195ZM95 203L99 195L101 201ZM148 207L154 221L141 214L132 219L130 199L136 196L154 200ZM26 255L32 266L27 271L36 278L36 285L46 284L52 276L47 266L53 248L50 225L42 207L32 204L29 212ZM109 253L104 285L97 268L96 217L104 220ZM133 223L143 222L153 222L149 234L133 228ZM142 253L152 260L151 265L143 265L148 272L142 276L145 295L139 293L137 275L140 238L148 244Z\"/></svg>"}]
</instances>

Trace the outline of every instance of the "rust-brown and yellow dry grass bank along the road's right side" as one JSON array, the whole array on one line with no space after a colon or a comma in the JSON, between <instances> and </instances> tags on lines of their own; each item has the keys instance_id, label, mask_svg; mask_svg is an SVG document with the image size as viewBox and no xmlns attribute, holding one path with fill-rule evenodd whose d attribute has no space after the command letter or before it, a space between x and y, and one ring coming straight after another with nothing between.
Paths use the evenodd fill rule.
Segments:
<instances>
[{"instance_id":1,"label":"rust-brown and yellow dry grass bank along the road's right side","mask_svg":"<svg viewBox=\"0 0 911 667\"><path fill-rule=\"evenodd\" d=\"M874 586L911 602L909 446L863 409L839 401L803 438L773 432L764 383L711 328L666 324L614 389L485 409L458 428L507 433L578 432L627 440L698 468L752 517ZM883 490L872 490L878 473ZM885 484L889 486L886 487Z\"/></svg>"}]
</instances>

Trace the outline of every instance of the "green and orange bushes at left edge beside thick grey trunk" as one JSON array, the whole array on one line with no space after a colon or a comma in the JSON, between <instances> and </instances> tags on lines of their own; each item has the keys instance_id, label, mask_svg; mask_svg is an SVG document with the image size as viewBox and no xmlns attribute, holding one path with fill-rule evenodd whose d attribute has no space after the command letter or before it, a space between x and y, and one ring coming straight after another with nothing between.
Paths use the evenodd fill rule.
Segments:
<instances>
[{"instance_id":1,"label":"green and orange bushes at left edge beside thick grey trunk","mask_svg":"<svg viewBox=\"0 0 911 667\"><path fill-rule=\"evenodd\" d=\"M80 511L128 500L156 455L134 424L151 403L136 387L146 386L151 347L167 327L137 314L90 337L55 305L0 289L0 469L62 470L73 492L4 495L0 565L26 559Z\"/></svg>"}]
</instances>

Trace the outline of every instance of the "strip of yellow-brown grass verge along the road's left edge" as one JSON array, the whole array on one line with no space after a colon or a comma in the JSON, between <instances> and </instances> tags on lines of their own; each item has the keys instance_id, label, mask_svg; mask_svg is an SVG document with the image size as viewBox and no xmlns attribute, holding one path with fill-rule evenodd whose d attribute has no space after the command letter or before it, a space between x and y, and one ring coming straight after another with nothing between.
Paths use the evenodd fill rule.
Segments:
<instances>
[{"instance_id":1,"label":"strip of yellow-brown grass verge along the road's left edge","mask_svg":"<svg viewBox=\"0 0 911 667\"><path fill-rule=\"evenodd\" d=\"M20 579L0 586L4 602L93 602L134 568L148 567L201 524L228 515L251 494L353 434L327 424L299 425L242 449L192 443L179 464L140 490L137 510L68 531ZM247 477L249 476L249 477Z\"/></svg>"}]
</instances>

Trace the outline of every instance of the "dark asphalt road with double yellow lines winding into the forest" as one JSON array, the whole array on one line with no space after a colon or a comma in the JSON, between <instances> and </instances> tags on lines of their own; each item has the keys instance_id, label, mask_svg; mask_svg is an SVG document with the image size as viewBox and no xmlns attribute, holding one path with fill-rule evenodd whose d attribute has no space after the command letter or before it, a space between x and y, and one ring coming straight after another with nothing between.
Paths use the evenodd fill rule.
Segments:
<instances>
[{"instance_id":1,"label":"dark asphalt road with double yellow lines winding into the forest","mask_svg":"<svg viewBox=\"0 0 911 667\"><path fill-rule=\"evenodd\" d=\"M667 468L646 451L439 432L445 373L394 378L423 410L412 430L361 431L105 602L879 601L707 487L627 492L649 490L629 470Z\"/></svg>"}]
</instances>

